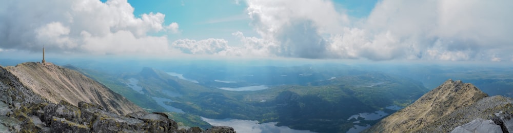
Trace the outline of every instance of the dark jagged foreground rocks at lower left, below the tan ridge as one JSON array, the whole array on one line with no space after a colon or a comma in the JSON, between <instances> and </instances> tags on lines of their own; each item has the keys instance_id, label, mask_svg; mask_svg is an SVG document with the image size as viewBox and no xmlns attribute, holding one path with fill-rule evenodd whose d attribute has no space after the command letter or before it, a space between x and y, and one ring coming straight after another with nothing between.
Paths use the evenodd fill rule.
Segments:
<instances>
[{"instance_id":1,"label":"dark jagged foreground rocks at lower left, below the tan ridge","mask_svg":"<svg viewBox=\"0 0 513 133\"><path fill-rule=\"evenodd\" d=\"M66 82L73 80L69 75L67 78L64 79ZM42 89L40 91L45 91ZM61 100L55 103L37 92L0 66L0 132L235 132L227 126L213 126L207 130L199 127L178 129L177 123L166 113L136 111L123 116L119 113L127 110L105 109L105 105L88 102L71 104ZM77 95L82 95L81 92L76 91Z\"/></svg>"}]
</instances>

